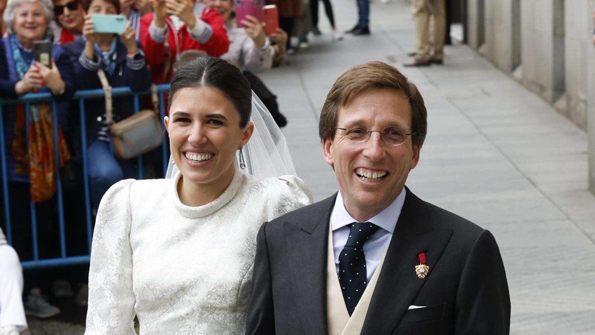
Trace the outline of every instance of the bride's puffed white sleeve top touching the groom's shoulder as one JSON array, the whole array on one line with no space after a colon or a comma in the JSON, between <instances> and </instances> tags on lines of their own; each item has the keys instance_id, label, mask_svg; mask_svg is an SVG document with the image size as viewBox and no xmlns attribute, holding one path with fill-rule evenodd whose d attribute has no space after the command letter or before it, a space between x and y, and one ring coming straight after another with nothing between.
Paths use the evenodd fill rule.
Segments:
<instances>
[{"instance_id":1,"label":"bride's puffed white sleeve top touching the groom's shoulder","mask_svg":"<svg viewBox=\"0 0 595 335\"><path fill-rule=\"evenodd\" d=\"M275 179L274 193L276 193L276 196L270 200L272 210L267 221L276 219L292 210L308 206L313 202L312 193L306 183L299 177L283 175Z\"/></svg>"}]
</instances>

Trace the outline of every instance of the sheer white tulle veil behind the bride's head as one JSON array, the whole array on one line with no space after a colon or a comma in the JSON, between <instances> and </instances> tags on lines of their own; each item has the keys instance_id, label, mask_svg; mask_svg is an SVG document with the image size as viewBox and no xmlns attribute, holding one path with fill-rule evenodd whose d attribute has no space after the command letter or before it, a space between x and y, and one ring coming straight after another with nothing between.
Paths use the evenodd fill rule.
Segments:
<instances>
[{"instance_id":1,"label":"sheer white tulle veil behind the bride's head","mask_svg":"<svg viewBox=\"0 0 595 335\"><path fill-rule=\"evenodd\" d=\"M281 129L254 92L252 92L250 122L254 123L254 132L248 143L242 148L246 169L239 168L239 151L236 153L237 169L249 175L263 178L296 175L289 147L287 147L287 141ZM178 168L170 156L165 178L171 178L177 172Z\"/></svg>"}]
</instances>

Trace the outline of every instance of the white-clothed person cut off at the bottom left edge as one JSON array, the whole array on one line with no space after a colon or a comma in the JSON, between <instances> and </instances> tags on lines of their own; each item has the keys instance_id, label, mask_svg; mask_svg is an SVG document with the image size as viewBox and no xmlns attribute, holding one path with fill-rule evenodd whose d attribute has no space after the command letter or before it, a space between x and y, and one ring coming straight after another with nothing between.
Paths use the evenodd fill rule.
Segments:
<instances>
[{"instance_id":1,"label":"white-clothed person cut off at the bottom left edge","mask_svg":"<svg viewBox=\"0 0 595 335\"><path fill-rule=\"evenodd\" d=\"M27 328L21 294L23 269L0 228L0 335L16 335Z\"/></svg>"}]
</instances>

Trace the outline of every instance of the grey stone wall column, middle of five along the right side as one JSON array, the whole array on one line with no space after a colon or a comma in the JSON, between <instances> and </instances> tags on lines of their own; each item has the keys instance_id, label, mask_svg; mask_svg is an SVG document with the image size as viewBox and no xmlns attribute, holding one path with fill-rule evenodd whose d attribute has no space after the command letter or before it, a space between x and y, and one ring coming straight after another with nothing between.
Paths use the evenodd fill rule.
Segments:
<instances>
[{"instance_id":1,"label":"grey stone wall column, middle of five along the right side","mask_svg":"<svg viewBox=\"0 0 595 335\"><path fill-rule=\"evenodd\" d=\"M550 104L564 92L564 0L522 0L522 83Z\"/></svg>"}]
</instances>

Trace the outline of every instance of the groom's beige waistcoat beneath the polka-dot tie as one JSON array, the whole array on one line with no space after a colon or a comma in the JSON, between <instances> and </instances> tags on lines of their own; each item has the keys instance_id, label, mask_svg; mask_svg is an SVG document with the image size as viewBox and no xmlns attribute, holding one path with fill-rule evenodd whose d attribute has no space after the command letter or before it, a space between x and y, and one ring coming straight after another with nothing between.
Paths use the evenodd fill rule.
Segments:
<instances>
[{"instance_id":1,"label":"groom's beige waistcoat beneath the polka-dot tie","mask_svg":"<svg viewBox=\"0 0 595 335\"><path fill-rule=\"evenodd\" d=\"M364 326L366 314L368 314L368 307L372 299L372 293L378 281L378 275L384 263L384 256L380 259L380 263L366 289L359 299L358 306L353 311L351 317L347 312L345 300L343 300L343 293L337 277L337 265L334 262L333 249L333 228L328 227L328 252L327 252L327 320L328 320L328 334L329 335L350 335L359 334Z\"/></svg>"}]
</instances>

